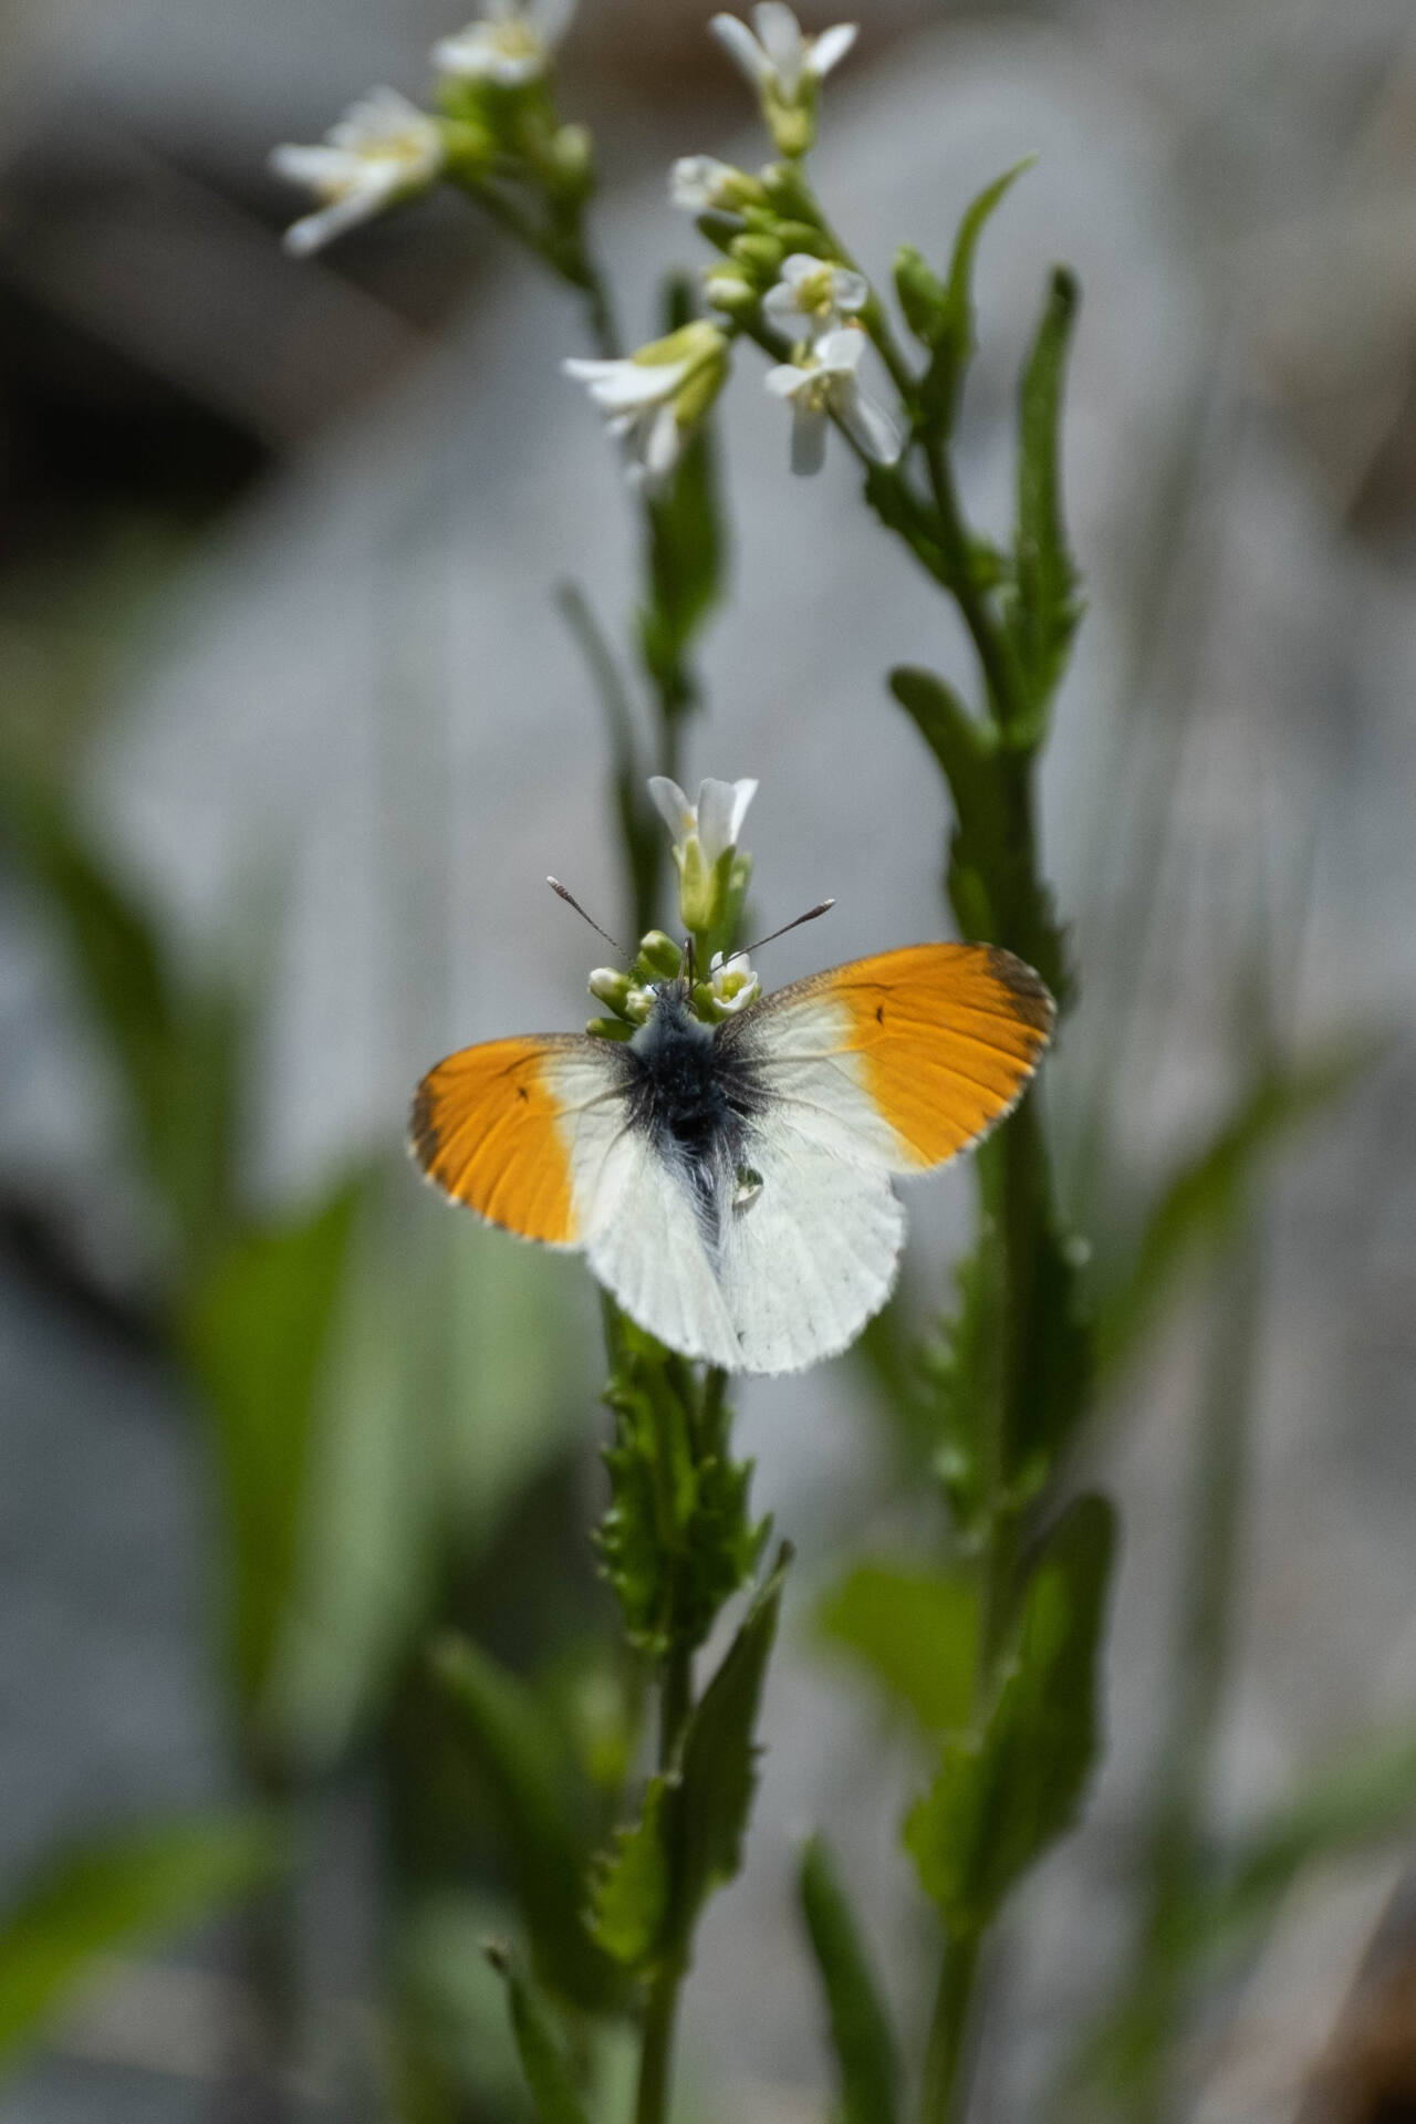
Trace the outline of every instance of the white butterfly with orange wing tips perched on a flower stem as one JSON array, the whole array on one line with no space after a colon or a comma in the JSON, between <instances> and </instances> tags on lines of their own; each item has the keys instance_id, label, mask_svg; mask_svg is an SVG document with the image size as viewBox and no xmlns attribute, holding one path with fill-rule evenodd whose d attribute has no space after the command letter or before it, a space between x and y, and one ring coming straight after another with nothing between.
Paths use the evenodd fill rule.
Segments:
<instances>
[{"instance_id":1,"label":"white butterfly with orange wing tips perched on a flower stem","mask_svg":"<svg viewBox=\"0 0 1416 2124\"><path fill-rule=\"evenodd\" d=\"M832 1357L890 1298L892 1175L979 1143L1023 1096L1053 998L1011 952L917 943L779 988L722 1024L686 979L618 1043L463 1047L414 1096L452 1202L577 1247L633 1321L728 1372Z\"/></svg>"}]
</instances>

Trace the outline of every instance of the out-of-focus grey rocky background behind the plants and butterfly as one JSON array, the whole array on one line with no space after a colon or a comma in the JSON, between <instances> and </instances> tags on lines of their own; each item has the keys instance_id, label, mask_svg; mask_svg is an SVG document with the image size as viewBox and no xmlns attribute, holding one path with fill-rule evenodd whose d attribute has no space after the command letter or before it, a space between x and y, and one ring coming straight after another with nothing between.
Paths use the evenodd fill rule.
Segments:
<instances>
[{"instance_id":1,"label":"out-of-focus grey rocky background behind the plants and butterfly","mask_svg":"<svg viewBox=\"0 0 1416 2124\"><path fill-rule=\"evenodd\" d=\"M985 520L1006 508L1044 268L1072 261L1085 289L1066 474L1089 616L1044 820L1085 981L1049 1090L1074 1194L1091 1177L1072 1117L1100 1081L1134 1185L1221 1111L1255 932L1291 969L1293 1030L1403 1034L1265 1211L1223 1780L1238 1818L1416 1691L1416 28L1399 0L858 13L817 181L875 272L902 238L938 257L966 200L1038 155L979 274L964 476ZM310 266L278 249L297 202L265 172L270 144L318 138L372 81L420 93L452 28L431 0L0 17L6 714L74 763L96 833L180 947L270 983L253 1183L272 1202L395 1141L446 1047L580 1022L594 952L548 871L622 920L603 731L550 605L569 578L618 624L635 595L614 459L558 374L584 350L573 310L450 198ZM701 249L667 161L752 166L762 144L698 4L584 0L563 83L601 138L601 232L650 336L658 274ZM773 947L775 983L938 932L945 820L883 671L970 671L851 469L788 478L752 361L724 435L735 597L692 773L762 782L747 841L764 926L839 903ZM204 1657L200 1457L87 1304L110 1291L121 1311L110 1264L142 1253L113 1096L53 939L8 890L0 1024L4 1880L79 1825L219 1793L231 1771ZM945 1298L970 1202L966 1175L913 1192L921 1306ZM85 1266L87 1311L36 1274L55 1253ZM573 1268L550 1277L592 1383L588 1294ZM985 2118L1028 2113L1121 1952L1108 1912L1163 1727L1202 1342L1182 1317L1123 1438L1098 1449L1125 1517L1110 1754L1085 1831L1013 1926ZM805 1612L843 1544L900 1536L898 1504L873 1523L875 1449L839 1370L754 1383L743 1429L758 1497L800 1544ZM894 1844L917 1765L790 1623L766 1740L754 1865L705 1926L686 2041L718 2113L796 2124L824 2088L794 1837L836 1833L919 2011L930 1960ZM312 2101L338 2103L363 1969L359 1808L357 1791L331 1808L308 1920L335 2060L321 2079L316 2058ZM1308 1946L1280 1926L1227 2041L1195 2060L1197 2116L1297 2113L1395 1880L1382 1861L1306 1890ZM0 2116L206 2116L219 1988L210 1956L125 1971Z\"/></svg>"}]
</instances>

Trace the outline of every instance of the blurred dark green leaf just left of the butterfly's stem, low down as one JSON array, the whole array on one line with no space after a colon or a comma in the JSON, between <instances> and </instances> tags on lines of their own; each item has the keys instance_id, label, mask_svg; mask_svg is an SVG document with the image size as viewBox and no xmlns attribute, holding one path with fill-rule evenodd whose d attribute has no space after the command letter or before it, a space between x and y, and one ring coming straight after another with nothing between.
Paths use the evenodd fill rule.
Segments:
<instances>
[{"instance_id":1,"label":"blurred dark green leaf just left of the butterfly's stem, low down","mask_svg":"<svg viewBox=\"0 0 1416 2124\"><path fill-rule=\"evenodd\" d=\"M539 1980L592 2011L605 2007L616 1982L584 1924L584 1793L560 1733L531 1689L467 1638L439 1638L433 1672L501 1816Z\"/></svg>"}]
</instances>

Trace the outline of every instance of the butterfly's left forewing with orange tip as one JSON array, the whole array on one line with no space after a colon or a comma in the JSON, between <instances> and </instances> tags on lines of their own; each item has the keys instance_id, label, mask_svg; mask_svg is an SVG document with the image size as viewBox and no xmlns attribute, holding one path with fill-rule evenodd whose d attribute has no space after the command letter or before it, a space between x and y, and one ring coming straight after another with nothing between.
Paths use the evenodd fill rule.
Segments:
<instances>
[{"instance_id":1,"label":"butterfly's left forewing with orange tip","mask_svg":"<svg viewBox=\"0 0 1416 2124\"><path fill-rule=\"evenodd\" d=\"M580 1247L622 1104L605 1041L486 1041L437 1062L418 1085L412 1153L435 1187L488 1223Z\"/></svg>"}]
</instances>

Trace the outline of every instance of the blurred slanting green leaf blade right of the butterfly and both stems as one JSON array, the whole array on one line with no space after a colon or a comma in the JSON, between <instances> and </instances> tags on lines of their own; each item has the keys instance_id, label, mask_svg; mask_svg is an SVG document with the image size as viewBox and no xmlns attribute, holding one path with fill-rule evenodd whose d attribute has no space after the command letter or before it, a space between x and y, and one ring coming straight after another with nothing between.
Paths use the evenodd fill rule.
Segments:
<instances>
[{"instance_id":1,"label":"blurred slanting green leaf blade right of the butterfly and both stems","mask_svg":"<svg viewBox=\"0 0 1416 2124\"><path fill-rule=\"evenodd\" d=\"M1374 1037L1348 1039L1265 1070L1229 1119L1174 1168L1144 1219L1127 1274L1102 1300L1104 1368L1115 1370L1136 1353L1189 1264L1229 1232L1263 1158L1344 1098L1384 1045Z\"/></svg>"}]
</instances>

